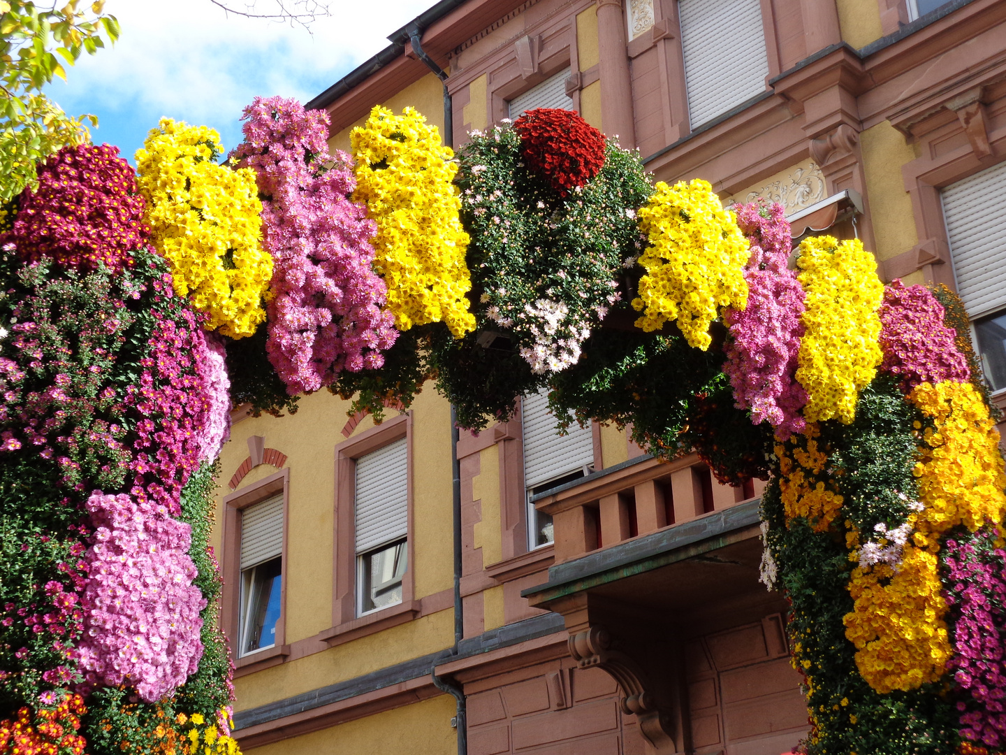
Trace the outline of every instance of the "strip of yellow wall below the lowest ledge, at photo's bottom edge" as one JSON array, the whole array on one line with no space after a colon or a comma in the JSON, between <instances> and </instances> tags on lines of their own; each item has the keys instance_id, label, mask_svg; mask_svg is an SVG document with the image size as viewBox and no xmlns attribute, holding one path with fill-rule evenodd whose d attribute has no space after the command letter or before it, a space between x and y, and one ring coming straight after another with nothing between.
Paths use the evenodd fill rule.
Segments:
<instances>
[{"instance_id":1,"label":"strip of yellow wall below the lowest ledge, at photo's bottom edge","mask_svg":"<svg viewBox=\"0 0 1006 755\"><path fill-rule=\"evenodd\" d=\"M454 698L441 695L321 731L245 750L250 755L453 755Z\"/></svg>"}]
</instances>

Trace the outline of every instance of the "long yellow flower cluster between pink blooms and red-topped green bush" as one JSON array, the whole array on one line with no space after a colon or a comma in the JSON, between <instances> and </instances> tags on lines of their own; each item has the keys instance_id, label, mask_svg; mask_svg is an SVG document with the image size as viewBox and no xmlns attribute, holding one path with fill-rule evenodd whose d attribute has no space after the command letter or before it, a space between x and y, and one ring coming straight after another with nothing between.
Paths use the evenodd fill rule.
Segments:
<instances>
[{"instance_id":1,"label":"long yellow flower cluster between pink blooms and red-topped green bush","mask_svg":"<svg viewBox=\"0 0 1006 755\"><path fill-rule=\"evenodd\" d=\"M458 165L436 126L412 108L400 116L380 106L350 140L356 158L353 199L377 223L374 270L387 285L398 330L445 322L455 337L475 329L466 294L468 234L454 192Z\"/></svg>"}]
</instances>

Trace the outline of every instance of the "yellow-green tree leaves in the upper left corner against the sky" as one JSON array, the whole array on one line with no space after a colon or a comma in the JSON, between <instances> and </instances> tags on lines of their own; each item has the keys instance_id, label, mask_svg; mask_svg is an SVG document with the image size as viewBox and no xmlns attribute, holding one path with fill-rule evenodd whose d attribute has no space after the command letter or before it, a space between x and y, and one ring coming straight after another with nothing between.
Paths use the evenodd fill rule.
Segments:
<instances>
[{"instance_id":1,"label":"yellow-green tree leaves in the upper left corner against the sky","mask_svg":"<svg viewBox=\"0 0 1006 755\"><path fill-rule=\"evenodd\" d=\"M42 94L54 77L66 79L63 63L97 52L103 36L119 38L119 21L103 13L104 0L89 10L80 4L69 0L57 9L0 0L0 200L34 184L36 162L88 141L85 121L98 125L94 116L67 116Z\"/></svg>"}]
</instances>

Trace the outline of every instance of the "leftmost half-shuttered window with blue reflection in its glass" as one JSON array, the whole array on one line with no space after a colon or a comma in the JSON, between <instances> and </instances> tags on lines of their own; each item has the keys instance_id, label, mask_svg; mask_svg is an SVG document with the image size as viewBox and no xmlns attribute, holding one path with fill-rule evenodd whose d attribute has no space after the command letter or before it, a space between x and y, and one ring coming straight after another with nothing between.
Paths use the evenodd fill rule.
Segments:
<instances>
[{"instance_id":1,"label":"leftmost half-shuttered window with blue reflection in its glass","mask_svg":"<svg viewBox=\"0 0 1006 755\"><path fill-rule=\"evenodd\" d=\"M274 647L283 588L283 495L241 512L240 655Z\"/></svg>"}]
</instances>

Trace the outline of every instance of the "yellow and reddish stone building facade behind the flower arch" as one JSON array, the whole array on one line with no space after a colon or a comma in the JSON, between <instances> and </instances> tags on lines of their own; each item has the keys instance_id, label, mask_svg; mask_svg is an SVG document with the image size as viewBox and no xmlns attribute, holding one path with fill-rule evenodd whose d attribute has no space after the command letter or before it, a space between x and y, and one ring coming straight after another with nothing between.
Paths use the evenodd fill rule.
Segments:
<instances>
[{"instance_id":1,"label":"yellow and reddish stone building facade behind the flower arch","mask_svg":"<svg viewBox=\"0 0 1006 755\"><path fill-rule=\"evenodd\" d=\"M333 148L376 104L449 115L455 145L577 110L657 180L780 201L795 241L855 236L884 280L956 289L1006 407L1006 2L444 0L389 39L310 104ZM525 397L456 444L459 569L447 401L347 409L235 410L220 457L243 750L778 755L806 733L757 480L613 427L560 438Z\"/></svg>"}]
</instances>

